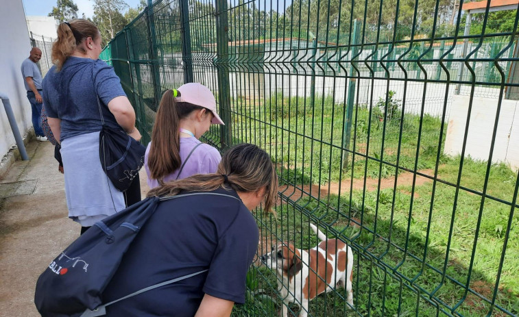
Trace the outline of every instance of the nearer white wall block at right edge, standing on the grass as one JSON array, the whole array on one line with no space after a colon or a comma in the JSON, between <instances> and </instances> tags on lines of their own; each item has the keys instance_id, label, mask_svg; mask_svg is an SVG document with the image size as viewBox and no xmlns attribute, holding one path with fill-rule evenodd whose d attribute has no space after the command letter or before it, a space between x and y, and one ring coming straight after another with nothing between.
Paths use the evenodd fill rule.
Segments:
<instances>
[{"instance_id":1,"label":"nearer white wall block at right edge, standing on the grass","mask_svg":"<svg viewBox=\"0 0 519 317\"><path fill-rule=\"evenodd\" d=\"M459 155L463 149L470 97L455 95L450 108L444 153ZM498 99L474 97L470 114L465 155L488 160ZM492 162L505 162L519 170L519 101L503 99L494 142ZM515 123L515 125L514 125Z\"/></svg>"}]
</instances>

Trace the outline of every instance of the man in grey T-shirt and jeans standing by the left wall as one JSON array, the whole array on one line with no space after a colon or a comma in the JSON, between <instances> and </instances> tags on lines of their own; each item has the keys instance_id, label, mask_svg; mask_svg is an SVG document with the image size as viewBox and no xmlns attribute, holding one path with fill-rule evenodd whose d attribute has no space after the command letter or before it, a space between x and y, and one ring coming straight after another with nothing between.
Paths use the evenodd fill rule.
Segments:
<instances>
[{"instance_id":1,"label":"man in grey T-shirt and jeans standing by the left wall","mask_svg":"<svg viewBox=\"0 0 519 317\"><path fill-rule=\"evenodd\" d=\"M43 106L41 96L42 77L40 69L36 64L40 58L41 50L38 49L38 47L33 47L29 58L22 62L21 71L23 75L23 84L25 84L25 90L27 90L27 99L29 99L29 103L31 103L32 125L34 126L36 140L47 141L47 137L43 134L43 130L40 126L41 108Z\"/></svg>"}]
</instances>

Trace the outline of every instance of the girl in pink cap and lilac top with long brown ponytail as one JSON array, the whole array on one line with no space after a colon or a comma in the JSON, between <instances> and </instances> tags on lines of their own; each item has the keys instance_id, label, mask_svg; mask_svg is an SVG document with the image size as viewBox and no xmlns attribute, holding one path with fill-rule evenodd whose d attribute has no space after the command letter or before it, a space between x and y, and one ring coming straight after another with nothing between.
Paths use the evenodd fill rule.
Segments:
<instances>
[{"instance_id":1,"label":"girl in pink cap and lilac top with long brown ponytail","mask_svg":"<svg viewBox=\"0 0 519 317\"><path fill-rule=\"evenodd\" d=\"M167 90L160 100L144 157L149 188L195 174L215 173L221 160L214 147L200 142L213 124L224 122L206 86L189 83Z\"/></svg>"}]
</instances>

